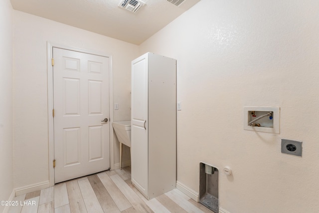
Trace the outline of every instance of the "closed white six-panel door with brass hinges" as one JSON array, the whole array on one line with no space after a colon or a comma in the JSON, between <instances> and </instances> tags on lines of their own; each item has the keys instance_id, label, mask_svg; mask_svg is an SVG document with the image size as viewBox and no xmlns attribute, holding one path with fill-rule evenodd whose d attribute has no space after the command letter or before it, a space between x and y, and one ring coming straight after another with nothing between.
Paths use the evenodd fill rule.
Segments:
<instances>
[{"instance_id":1,"label":"closed white six-panel door with brass hinges","mask_svg":"<svg viewBox=\"0 0 319 213\"><path fill-rule=\"evenodd\" d=\"M110 168L109 58L53 48L54 183Z\"/></svg>"}]
</instances>

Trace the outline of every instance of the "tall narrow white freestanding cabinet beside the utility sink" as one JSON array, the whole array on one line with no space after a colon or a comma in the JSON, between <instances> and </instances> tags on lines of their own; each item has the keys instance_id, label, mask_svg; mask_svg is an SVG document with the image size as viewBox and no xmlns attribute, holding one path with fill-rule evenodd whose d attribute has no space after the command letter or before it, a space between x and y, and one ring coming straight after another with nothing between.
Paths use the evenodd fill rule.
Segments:
<instances>
[{"instance_id":1,"label":"tall narrow white freestanding cabinet beside the utility sink","mask_svg":"<svg viewBox=\"0 0 319 213\"><path fill-rule=\"evenodd\" d=\"M176 60L132 61L132 184L148 199L176 187Z\"/></svg>"}]
</instances>

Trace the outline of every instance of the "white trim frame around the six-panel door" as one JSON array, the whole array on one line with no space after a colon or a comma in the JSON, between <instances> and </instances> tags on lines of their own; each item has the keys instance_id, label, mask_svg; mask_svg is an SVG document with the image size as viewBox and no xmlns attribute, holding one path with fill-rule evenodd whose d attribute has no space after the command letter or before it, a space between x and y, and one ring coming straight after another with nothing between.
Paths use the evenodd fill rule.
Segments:
<instances>
[{"instance_id":1,"label":"white trim frame around the six-panel door","mask_svg":"<svg viewBox=\"0 0 319 213\"><path fill-rule=\"evenodd\" d=\"M81 49L71 47L63 44L57 44L47 41L47 84L48 84L48 154L49 154L49 184L54 186L54 120L52 116L53 111L53 66L52 53L53 47L67 49L77 52L88 53L92 55L99 55L110 58L109 67L109 107L110 107L110 169L114 169L114 133L113 133L113 70L112 70L112 56L106 52L98 52L95 50Z\"/></svg>"}]
</instances>

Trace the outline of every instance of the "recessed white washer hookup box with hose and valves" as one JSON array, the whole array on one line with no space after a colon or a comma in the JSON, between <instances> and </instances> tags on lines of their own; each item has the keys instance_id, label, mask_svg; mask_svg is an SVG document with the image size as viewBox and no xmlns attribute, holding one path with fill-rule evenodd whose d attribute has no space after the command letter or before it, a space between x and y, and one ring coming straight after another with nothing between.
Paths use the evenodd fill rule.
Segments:
<instances>
[{"instance_id":1,"label":"recessed white washer hookup box with hose and valves","mask_svg":"<svg viewBox=\"0 0 319 213\"><path fill-rule=\"evenodd\" d=\"M279 107L244 107L244 129L279 134L279 115Z\"/></svg>"}]
</instances>

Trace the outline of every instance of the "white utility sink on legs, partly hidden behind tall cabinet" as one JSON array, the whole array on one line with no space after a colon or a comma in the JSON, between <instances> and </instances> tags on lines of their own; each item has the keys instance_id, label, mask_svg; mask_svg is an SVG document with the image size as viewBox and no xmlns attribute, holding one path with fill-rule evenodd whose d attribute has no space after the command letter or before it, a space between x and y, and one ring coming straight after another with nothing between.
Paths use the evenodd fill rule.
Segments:
<instances>
[{"instance_id":1,"label":"white utility sink on legs, partly hidden behind tall cabinet","mask_svg":"<svg viewBox=\"0 0 319 213\"><path fill-rule=\"evenodd\" d=\"M120 169L122 169L122 144L131 147L131 121L115 121L112 126L120 142Z\"/></svg>"}]
</instances>

